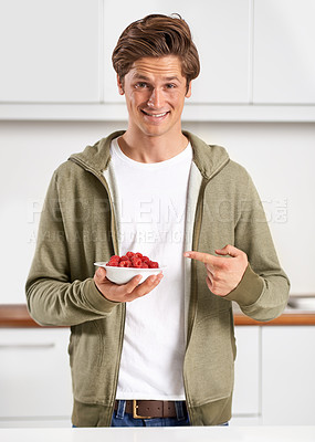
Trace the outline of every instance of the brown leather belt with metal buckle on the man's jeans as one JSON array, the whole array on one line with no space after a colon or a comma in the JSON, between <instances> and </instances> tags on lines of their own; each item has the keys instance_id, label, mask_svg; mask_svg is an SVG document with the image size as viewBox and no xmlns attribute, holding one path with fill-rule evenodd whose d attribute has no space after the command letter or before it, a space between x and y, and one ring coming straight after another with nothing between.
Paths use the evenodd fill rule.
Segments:
<instances>
[{"instance_id":1,"label":"brown leather belt with metal buckle on the man's jeans","mask_svg":"<svg viewBox=\"0 0 315 442\"><path fill-rule=\"evenodd\" d=\"M118 409L118 401L115 401L115 410ZM130 413L135 419L153 418L176 418L174 401L154 400L126 400L125 413Z\"/></svg>"}]
</instances>

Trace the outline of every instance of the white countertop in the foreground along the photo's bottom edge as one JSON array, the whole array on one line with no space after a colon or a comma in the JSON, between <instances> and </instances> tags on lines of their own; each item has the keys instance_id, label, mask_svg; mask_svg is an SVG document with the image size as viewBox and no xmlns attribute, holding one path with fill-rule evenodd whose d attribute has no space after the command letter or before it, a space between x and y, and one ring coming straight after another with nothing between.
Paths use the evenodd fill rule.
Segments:
<instances>
[{"instance_id":1,"label":"white countertop in the foreground along the photo's bottom edge","mask_svg":"<svg viewBox=\"0 0 315 442\"><path fill-rule=\"evenodd\" d=\"M0 429L6 442L314 442L315 427Z\"/></svg>"}]
</instances>

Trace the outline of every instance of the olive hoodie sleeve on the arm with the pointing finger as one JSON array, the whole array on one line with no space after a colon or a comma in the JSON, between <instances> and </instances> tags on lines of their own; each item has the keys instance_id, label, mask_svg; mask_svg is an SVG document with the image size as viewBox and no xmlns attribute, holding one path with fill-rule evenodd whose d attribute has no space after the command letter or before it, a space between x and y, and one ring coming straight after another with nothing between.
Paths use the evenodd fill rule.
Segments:
<instances>
[{"instance_id":1,"label":"olive hoodie sleeve on the arm with the pointing finger","mask_svg":"<svg viewBox=\"0 0 315 442\"><path fill-rule=\"evenodd\" d=\"M290 281L282 270L262 202L249 177L248 194L241 201L234 245L246 253L249 265L239 285L225 296L256 320L271 320L286 306Z\"/></svg>"}]
</instances>

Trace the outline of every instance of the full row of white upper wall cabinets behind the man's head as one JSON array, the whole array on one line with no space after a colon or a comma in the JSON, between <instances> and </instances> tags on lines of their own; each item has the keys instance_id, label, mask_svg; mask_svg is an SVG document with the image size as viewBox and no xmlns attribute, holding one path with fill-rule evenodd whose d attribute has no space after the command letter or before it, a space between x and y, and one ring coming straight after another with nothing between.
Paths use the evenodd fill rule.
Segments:
<instances>
[{"instance_id":1,"label":"full row of white upper wall cabinets behind the man's head","mask_svg":"<svg viewBox=\"0 0 315 442\"><path fill-rule=\"evenodd\" d=\"M313 0L2 0L0 120L126 122L117 39L176 12L201 59L183 122L315 122Z\"/></svg>"}]
</instances>

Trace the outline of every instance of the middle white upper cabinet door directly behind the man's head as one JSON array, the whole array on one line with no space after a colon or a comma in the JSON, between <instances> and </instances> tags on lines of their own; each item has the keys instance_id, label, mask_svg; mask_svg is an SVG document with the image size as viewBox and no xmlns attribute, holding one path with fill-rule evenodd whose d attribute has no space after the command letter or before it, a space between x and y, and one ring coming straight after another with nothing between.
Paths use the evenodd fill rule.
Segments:
<instances>
[{"instance_id":1,"label":"middle white upper cabinet door directly behind the man's head","mask_svg":"<svg viewBox=\"0 0 315 442\"><path fill-rule=\"evenodd\" d=\"M123 102L112 66L112 52L123 30L149 13L179 13L189 24L201 60L200 76L192 83L189 103L248 103L249 101L249 0L134 0L120 4L106 1L105 103ZM117 20L119 18L119 20Z\"/></svg>"}]
</instances>

